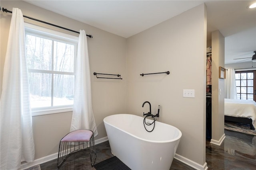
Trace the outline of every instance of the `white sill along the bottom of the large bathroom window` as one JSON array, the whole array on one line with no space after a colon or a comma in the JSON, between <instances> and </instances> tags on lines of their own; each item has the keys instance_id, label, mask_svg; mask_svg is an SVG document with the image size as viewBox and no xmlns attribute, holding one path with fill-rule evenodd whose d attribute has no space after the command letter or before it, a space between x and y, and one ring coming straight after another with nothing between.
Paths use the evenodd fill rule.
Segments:
<instances>
[{"instance_id":1,"label":"white sill along the bottom of the large bathroom window","mask_svg":"<svg viewBox=\"0 0 256 170\"><path fill-rule=\"evenodd\" d=\"M32 116L48 115L54 113L63 113L73 111L73 106L49 109L32 109Z\"/></svg>"}]
</instances>

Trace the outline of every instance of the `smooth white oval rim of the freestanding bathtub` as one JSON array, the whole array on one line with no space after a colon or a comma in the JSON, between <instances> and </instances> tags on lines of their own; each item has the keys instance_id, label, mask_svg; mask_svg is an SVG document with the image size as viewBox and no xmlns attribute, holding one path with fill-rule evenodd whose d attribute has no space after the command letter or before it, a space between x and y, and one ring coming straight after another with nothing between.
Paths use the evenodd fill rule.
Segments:
<instances>
[{"instance_id":1,"label":"smooth white oval rim of the freestanding bathtub","mask_svg":"<svg viewBox=\"0 0 256 170\"><path fill-rule=\"evenodd\" d=\"M117 113L117 114L113 114L113 115L133 115L133 116L138 116L138 115L128 114L128 113L120 113L120 114ZM110 123L108 123L108 122L105 121L105 119L106 119L107 117L110 117L110 116L112 116L112 115L109 115L109 116L104 117L103 122L106 123L106 124L108 124L108 125L110 125L110 126L112 126L112 127L115 127L116 129L119 129L120 131L124 131L124 130L122 130L122 129L120 129L120 128L114 126L114 125L111 125ZM141 117L141 116L138 116L138 117ZM144 117L142 117L142 118L144 118ZM169 125L169 124L167 124L167 123L162 123L162 122L160 122L160 121L157 121L157 123ZM180 129L178 129L177 127L172 126L172 125L169 125L169 126L171 126L171 127L173 127L174 129L176 129L179 134L178 134L178 137L176 137L176 138L174 138L174 139L171 139L171 140L165 140L165 141L152 141L152 140L148 140L148 139L143 139L143 138L138 137L138 136L136 136L136 135L133 135L132 133L129 133L129 132L127 132L127 131L124 131L124 132L125 132L125 133L128 133L129 135L131 135L131 136L133 136L133 137L135 137L135 138L137 138L137 139L140 139L140 140L143 140L143 141L147 141L147 142L152 142L152 143L169 143L169 142L174 142L174 141L180 140L180 138L182 137L182 132L180 131ZM105 129L106 129L106 127L105 127ZM149 133L150 133L150 132L149 132Z\"/></svg>"}]
</instances>

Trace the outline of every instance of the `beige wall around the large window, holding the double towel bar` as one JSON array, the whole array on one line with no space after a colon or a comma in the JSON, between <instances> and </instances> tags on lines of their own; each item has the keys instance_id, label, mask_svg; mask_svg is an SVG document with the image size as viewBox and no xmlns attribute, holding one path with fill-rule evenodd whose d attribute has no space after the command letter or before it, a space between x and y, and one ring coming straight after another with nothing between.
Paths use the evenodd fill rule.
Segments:
<instances>
[{"instance_id":1,"label":"beige wall around the large window, holding the double towel bar","mask_svg":"<svg viewBox=\"0 0 256 170\"><path fill-rule=\"evenodd\" d=\"M1 6L11 11L12 8L20 8L23 15L54 23L75 31L84 29L87 34L93 35L93 38L88 38L87 41L92 83L92 107L99 133L95 139L106 137L103 118L114 113L126 112L126 39L48 10L44 10L24 1L1 0ZM2 82L11 14L1 12L0 17L0 82ZM24 21L78 36L77 33L58 29L26 18L24 18ZM93 72L121 74L123 80L100 80L93 75ZM0 84L0 87L0 91L2 91L2 84ZM58 143L60 139L70 130L71 117L72 112L33 117L36 159L58 152Z\"/></svg>"}]
</instances>

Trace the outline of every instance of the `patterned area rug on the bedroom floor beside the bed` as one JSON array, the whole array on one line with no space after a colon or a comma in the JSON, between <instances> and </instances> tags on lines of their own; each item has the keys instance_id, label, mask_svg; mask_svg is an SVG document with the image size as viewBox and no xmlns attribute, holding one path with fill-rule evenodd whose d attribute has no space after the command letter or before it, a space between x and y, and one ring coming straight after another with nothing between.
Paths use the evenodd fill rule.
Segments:
<instances>
[{"instance_id":1,"label":"patterned area rug on the bedroom floor beside the bed","mask_svg":"<svg viewBox=\"0 0 256 170\"><path fill-rule=\"evenodd\" d=\"M224 128L228 131L235 131L256 136L256 130L251 130L250 125L248 124L225 121Z\"/></svg>"}]
</instances>

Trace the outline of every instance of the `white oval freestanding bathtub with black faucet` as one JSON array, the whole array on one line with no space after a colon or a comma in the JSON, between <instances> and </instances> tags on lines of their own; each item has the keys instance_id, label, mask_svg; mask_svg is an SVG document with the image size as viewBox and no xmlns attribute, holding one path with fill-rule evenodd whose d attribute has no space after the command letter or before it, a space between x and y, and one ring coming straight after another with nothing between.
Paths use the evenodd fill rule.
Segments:
<instances>
[{"instance_id":1,"label":"white oval freestanding bathtub with black faucet","mask_svg":"<svg viewBox=\"0 0 256 170\"><path fill-rule=\"evenodd\" d=\"M169 170L181 131L156 121L154 130L147 132L143 119L131 114L104 118L112 153L132 170Z\"/></svg>"}]
</instances>

